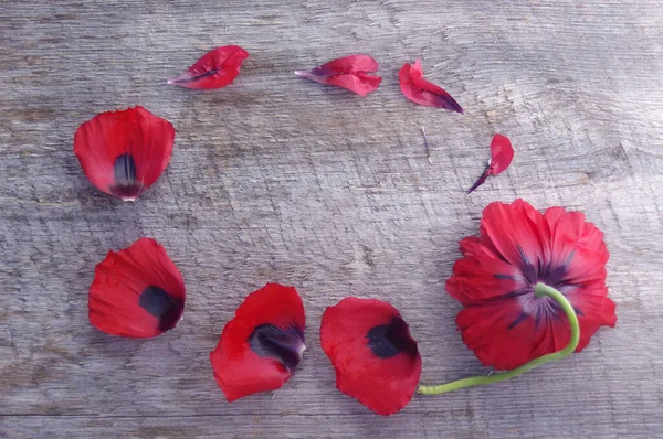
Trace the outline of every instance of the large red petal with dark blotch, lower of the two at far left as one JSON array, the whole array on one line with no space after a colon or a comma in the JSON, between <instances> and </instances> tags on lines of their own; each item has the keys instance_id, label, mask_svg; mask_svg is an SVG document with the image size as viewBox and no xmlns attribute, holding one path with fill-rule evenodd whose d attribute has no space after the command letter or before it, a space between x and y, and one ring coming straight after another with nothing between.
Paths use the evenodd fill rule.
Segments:
<instances>
[{"instance_id":1,"label":"large red petal with dark blotch, lower of the two at far left","mask_svg":"<svg viewBox=\"0 0 663 439\"><path fill-rule=\"evenodd\" d=\"M140 238L96 266L90 323L112 335L148 339L173 329L185 312L185 280L164 247Z\"/></svg>"}]
</instances>

